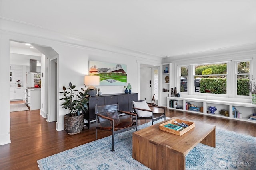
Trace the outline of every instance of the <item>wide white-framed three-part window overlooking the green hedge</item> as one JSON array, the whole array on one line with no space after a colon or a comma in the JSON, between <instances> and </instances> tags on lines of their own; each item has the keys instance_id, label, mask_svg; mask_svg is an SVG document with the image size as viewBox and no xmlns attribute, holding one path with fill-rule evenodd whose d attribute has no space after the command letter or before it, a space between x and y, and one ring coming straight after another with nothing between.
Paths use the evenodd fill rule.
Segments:
<instances>
[{"instance_id":1,"label":"wide white-framed three-part window overlooking the green hedge","mask_svg":"<svg viewBox=\"0 0 256 170\"><path fill-rule=\"evenodd\" d=\"M211 93L230 98L250 97L252 59L180 65L178 71L177 86L180 92L188 95Z\"/></svg>"}]
</instances>

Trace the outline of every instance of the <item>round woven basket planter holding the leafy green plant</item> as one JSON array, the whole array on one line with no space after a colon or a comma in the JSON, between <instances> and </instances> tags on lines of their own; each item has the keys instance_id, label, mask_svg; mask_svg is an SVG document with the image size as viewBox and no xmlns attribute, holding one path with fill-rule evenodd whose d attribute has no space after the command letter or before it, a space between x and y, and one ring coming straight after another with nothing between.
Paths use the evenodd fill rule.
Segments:
<instances>
[{"instance_id":1,"label":"round woven basket planter holding the leafy green plant","mask_svg":"<svg viewBox=\"0 0 256 170\"><path fill-rule=\"evenodd\" d=\"M69 135L80 133L84 129L84 115L71 116L70 113L64 115L64 129Z\"/></svg>"}]
</instances>

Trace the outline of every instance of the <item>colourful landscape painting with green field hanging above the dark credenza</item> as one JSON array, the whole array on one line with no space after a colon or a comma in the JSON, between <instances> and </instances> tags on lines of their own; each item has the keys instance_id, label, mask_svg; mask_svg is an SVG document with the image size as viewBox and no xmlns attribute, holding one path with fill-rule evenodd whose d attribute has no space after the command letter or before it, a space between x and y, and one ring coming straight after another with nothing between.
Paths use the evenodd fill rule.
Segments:
<instances>
[{"instance_id":1,"label":"colourful landscape painting with green field hanging above the dark credenza","mask_svg":"<svg viewBox=\"0 0 256 170\"><path fill-rule=\"evenodd\" d=\"M126 85L126 64L89 61L89 75L100 76L100 86Z\"/></svg>"}]
</instances>

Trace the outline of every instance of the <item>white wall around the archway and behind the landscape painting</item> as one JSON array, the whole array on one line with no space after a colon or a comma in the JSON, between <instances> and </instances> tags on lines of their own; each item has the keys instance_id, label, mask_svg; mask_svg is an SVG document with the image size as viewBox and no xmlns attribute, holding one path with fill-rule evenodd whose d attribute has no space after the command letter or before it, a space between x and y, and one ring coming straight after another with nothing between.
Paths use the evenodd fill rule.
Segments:
<instances>
[{"instance_id":1,"label":"white wall around the archway and behind the landscape painting","mask_svg":"<svg viewBox=\"0 0 256 170\"><path fill-rule=\"evenodd\" d=\"M0 145L10 143L10 108L9 108L9 64L10 40L34 43L51 47L59 54L58 59L58 91L69 82L77 89L84 87L84 75L88 74L88 61L104 61L127 64L127 81L133 92L138 92L138 61L140 63L161 63L161 57L128 51L50 32L41 28L0 19ZM40 36L40 37L39 37ZM100 86L102 94L123 93L123 86ZM49 99L48 99L49 100ZM64 129L64 115L68 112L62 109L58 101L58 117L56 129Z\"/></svg>"}]
</instances>

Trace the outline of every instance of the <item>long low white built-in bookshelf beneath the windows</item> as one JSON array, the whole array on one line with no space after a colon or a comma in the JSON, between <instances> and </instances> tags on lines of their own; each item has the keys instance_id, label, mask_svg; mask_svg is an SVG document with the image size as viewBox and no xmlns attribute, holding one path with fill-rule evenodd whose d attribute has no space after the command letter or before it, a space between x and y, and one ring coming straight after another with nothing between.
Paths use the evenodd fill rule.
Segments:
<instances>
[{"instance_id":1,"label":"long low white built-in bookshelf beneath the windows","mask_svg":"<svg viewBox=\"0 0 256 170\"><path fill-rule=\"evenodd\" d=\"M210 106L216 107L217 110L214 112L214 114L208 111L208 108ZM205 100L196 98L167 97L167 108L182 110L190 113L256 123L256 120L249 119L250 116L256 113L256 105L250 103Z\"/></svg>"}]
</instances>

